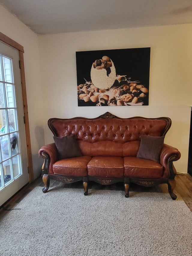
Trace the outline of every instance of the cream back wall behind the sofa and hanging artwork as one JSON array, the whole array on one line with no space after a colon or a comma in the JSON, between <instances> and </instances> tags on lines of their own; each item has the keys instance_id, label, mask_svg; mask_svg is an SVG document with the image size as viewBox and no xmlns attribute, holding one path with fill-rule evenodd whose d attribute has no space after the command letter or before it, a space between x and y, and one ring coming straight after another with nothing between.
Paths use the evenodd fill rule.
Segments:
<instances>
[{"instance_id":1,"label":"cream back wall behind the sofa and hanging artwork","mask_svg":"<svg viewBox=\"0 0 192 256\"><path fill-rule=\"evenodd\" d=\"M187 172L192 105L192 24L40 35L42 88L44 91L45 143L51 117L96 117L107 111L119 117L168 116L172 127L165 143L177 147L182 157L178 172ZM76 51L151 47L149 106L78 107ZM131 61L131 60L130 60Z\"/></svg>"}]
</instances>

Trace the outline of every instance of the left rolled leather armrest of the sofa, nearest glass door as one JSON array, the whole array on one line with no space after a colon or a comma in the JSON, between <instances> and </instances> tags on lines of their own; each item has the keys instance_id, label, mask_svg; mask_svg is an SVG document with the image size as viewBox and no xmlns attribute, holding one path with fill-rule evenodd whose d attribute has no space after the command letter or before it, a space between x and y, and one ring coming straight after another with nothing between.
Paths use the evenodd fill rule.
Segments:
<instances>
[{"instance_id":1,"label":"left rolled leather armrest of the sofa, nearest glass door","mask_svg":"<svg viewBox=\"0 0 192 256\"><path fill-rule=\"evenodd\" d=\"M52 165L58 160L58 153L55 143L48 144L39 149L39 156L44 158L42 170L44 173L53 174Z\"/></svg>"}]
</instances>

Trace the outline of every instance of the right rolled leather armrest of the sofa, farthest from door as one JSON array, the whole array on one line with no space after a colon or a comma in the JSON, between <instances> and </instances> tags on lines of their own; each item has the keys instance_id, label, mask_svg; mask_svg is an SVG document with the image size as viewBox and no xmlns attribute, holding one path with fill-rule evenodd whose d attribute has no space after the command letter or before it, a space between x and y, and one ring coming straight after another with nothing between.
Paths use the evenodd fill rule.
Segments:
<instances>
[{"instance_id":1,"label":"right rolled leather armrest of the sofa, farthest from door","mask_svg":"<svg viewBox=\"0 0 192 256\"><path fill-rule=\"evenodd\" d=\"M178 149L167 144L163 144L160 155L160 164L164 167L164 178L175 178L177 172L173 165L173 161L179 160L180 157L181 153Z\"/></svg>"}]
</instances>

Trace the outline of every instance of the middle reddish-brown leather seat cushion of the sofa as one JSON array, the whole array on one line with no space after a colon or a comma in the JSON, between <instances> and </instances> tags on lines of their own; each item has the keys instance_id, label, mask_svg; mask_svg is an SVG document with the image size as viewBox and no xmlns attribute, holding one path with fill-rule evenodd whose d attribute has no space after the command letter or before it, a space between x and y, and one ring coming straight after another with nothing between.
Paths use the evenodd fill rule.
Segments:
<instances>
[{"instance_id":1,"label":"middle reddish-brown leather seat cushion of the sofa","mask_svg":"<svg viewBox=\"0 0 192 256\"><path fill-rule=\"evenodd\" d=\"M87 164L89 176L123 177L123 158L119 156L94 156Z\"/></svg>"}]
</instances>

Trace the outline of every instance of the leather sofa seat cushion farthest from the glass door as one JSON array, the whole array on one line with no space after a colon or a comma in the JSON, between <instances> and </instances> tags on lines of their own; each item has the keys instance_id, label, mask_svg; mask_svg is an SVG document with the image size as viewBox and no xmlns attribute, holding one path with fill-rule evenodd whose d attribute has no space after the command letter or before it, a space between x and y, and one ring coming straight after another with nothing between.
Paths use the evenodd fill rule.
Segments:
<instances>
[{"instance_id":1,"label":"leather sofa seat cushion farthest from the glass door","mask_svg":"<svg viewBox=\"0 0 192 256\"><path fill-rule=\"evenodd\" d=\"M138 158L124 157L124 175L131 177L153 177L163 176L163 166L155 161Z\"/></svg>"}]
</instances>

